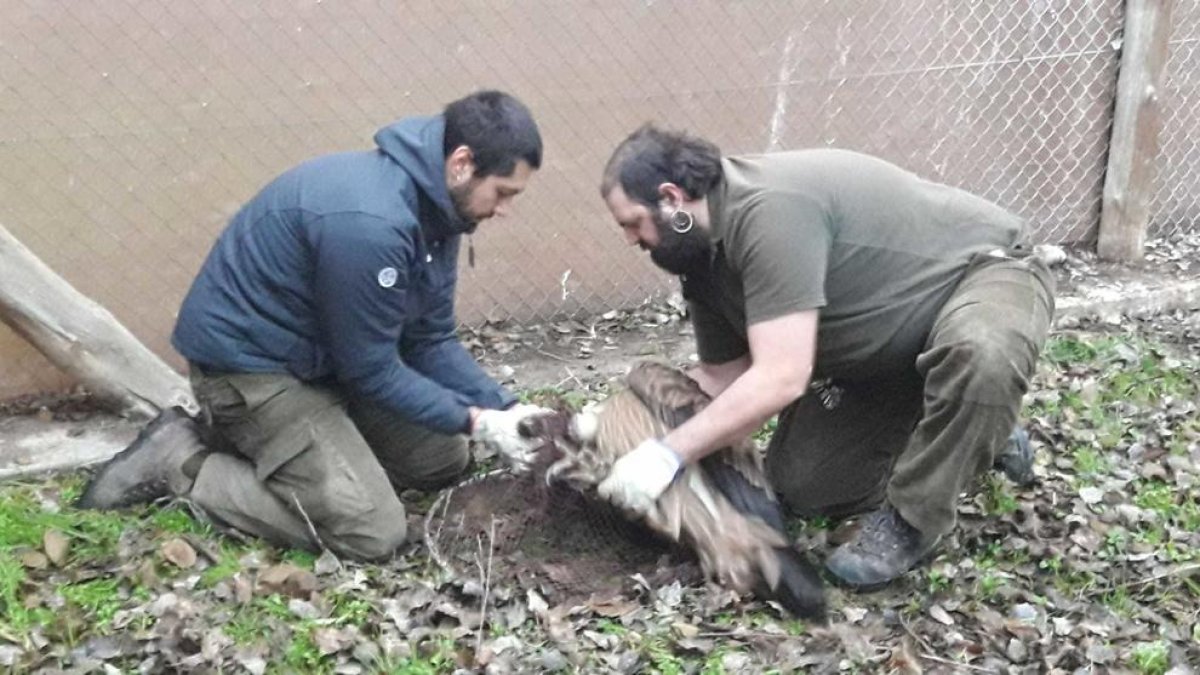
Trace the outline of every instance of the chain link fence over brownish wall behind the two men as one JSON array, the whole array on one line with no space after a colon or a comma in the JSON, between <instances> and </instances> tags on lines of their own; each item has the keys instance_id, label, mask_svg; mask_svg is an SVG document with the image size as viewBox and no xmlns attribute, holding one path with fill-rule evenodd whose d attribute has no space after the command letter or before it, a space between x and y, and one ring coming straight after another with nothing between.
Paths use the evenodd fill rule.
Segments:
<instances>
[{"instance_id":1,"label":"chain link fence over brownish wall behind the two men","mask_svg":"<svg viewBox=\"0 0 1200 675\"><path fill-rule=\"evenodd\" d=\"M1194 229L1198 29L1194 7L1177 13L1156 222ZM877 154L1024 214L1038 240L1087 243L1121 29L1121 0L10 0L0 223L180 365L174 312L263 184L500 88L538 115L547 154L516 214L475 235L469 324L670 289L598 197L610 150L646 120L730 154ZM0 398L62 384L0 330Z\"/></svg>"}]
</instances>

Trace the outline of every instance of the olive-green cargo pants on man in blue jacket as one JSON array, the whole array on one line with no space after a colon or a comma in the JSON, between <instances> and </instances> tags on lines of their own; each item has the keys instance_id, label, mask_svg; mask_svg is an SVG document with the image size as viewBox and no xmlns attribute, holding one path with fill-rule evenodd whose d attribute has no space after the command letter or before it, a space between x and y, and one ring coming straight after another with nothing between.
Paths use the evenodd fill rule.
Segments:
<instances>
[{"instance_id":1,"label":"olive-green cargo pants on man in blue jacket","mask_svg":"<svg viewBox=\"0 0 1200 675\"><path fill-rule=\"evenodd\" d=\"M221 448L187 495L211 518L281 546L388 557L407 534L402 488L455 480L469 458L463 436L406 422L336 388L288 375L208 372L192 389Z\"/></svg>"}]
</instances>

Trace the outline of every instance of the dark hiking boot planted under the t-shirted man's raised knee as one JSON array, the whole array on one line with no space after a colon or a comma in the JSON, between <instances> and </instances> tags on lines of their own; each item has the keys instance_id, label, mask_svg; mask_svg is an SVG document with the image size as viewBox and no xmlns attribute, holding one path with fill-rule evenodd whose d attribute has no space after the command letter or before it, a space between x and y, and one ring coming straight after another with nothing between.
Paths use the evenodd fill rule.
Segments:
<instances>
[{"instance_id":1,"label":"dark hiking boot planted under the t-shirted man's raised knee","mask_svg":"<svg viewBox=\"0 0 1200 675\"><path fill-rule=\"evenodd\" d=\"M908 572L932 552L940 539L922 534L884 503L863 516L863 526L829 555L826 568L847 586L871 590Z\"/></svg>"}]
</instances>

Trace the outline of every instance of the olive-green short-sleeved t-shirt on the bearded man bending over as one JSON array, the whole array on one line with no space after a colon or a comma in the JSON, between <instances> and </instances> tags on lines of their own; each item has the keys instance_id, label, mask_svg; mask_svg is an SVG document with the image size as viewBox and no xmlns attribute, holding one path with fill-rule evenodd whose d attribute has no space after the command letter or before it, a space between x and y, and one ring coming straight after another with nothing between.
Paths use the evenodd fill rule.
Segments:
<instances>
[{"instance_id":1,"label":"olive-green short-sleeved t-shirt on the bearded man bending over","mask_svg":"<svg viewBox=\"0 0 1200 675\"><path fill-rule=\"evenodd\" d=\"M986 199L846 150L721 166L708 195L714 265L683 279L706 363L749 353L756 322L820 309L816 376L910 369L971 258L1025 232Z\"/></svg>"}]
</instances>

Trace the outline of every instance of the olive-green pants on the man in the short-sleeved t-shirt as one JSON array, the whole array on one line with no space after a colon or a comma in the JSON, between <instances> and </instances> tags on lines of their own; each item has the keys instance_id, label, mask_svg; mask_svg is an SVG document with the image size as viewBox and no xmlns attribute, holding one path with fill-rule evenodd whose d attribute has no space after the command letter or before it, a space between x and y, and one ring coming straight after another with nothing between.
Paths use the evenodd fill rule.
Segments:
<instances>
[{"instance_id":1,"label":"olive-green pants on the man in the short-sleeved t-shirt","mask_svg":"<svg viewBox=\"0 0 1200 675\"><path fill-rule=\"evenodd\" d=\"M1037 258L979 256L905 374L836 382L780 413L768 474L802 515L840 518L884 496L914 527L943 534L955 504L1013 431L1054 315Z\"/></svg>"}]
</instances>

